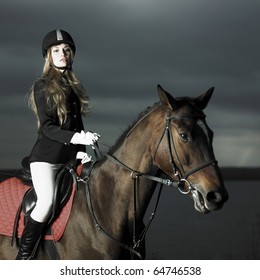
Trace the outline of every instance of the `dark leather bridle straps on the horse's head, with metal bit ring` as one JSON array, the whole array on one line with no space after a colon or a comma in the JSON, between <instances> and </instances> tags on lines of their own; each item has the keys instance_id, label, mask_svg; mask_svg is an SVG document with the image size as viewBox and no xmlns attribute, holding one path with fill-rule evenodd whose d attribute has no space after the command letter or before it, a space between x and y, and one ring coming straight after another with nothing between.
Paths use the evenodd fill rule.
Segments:
<instances>
[{"instance_id":1,"label":"dark leather bridle straps on the horse's head, with metal bit ring","mask_svg":"<svg viewBox=\"0 0 260 280\"><path fill-rule=\"evenodd\" d=\"M169 158L170 158L170 164L173 170L174 175L177 177L178 179L178 189L181 193L183 194L188 194L190 193L191 190L194 190L195 188L192 186L192 184L188 181L188 177L196 172L198 172L199 170L209 166L209 165L217 165L217 160L214 159L210 159L209 161L206 161L194 168L192 168L191 170L188 171L184 171L184 168L180 162L178 153L177 153L177 149L176 149L176 145L174 143L174 139L173 139L173 135L172 135L172 130L171 130L171 121L172 120L181 120L181 119L205 119L205 115L204 114L197 114L197 115L188 115L188 116L170 116L169 114L166 117L166 125L165 125L165 129L163 131L162 137L160 139L160 142L158 144L157 149L160 146L160 143L164 137L164 135L166 134L166 138L167 138L167 148L168 148L168 154L169 154ZM172 149L173 148L173 149ZM178 166L179 168L177 168L175 162L174 162L174 157L173 157L173 151L174 151L174 155L175 158L178 162ZM184 190L184 185L185 183L188 184L188 191Z\"/></svg>"}]
</instances>

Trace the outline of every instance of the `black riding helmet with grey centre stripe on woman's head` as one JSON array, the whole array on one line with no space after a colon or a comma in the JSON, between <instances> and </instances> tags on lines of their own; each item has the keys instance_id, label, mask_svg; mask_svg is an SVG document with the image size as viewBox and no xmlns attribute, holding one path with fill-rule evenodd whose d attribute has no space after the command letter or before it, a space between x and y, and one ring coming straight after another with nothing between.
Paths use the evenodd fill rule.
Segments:
<instances>
[{"instance_id":1,"label":"black riding helmet with grey centre stripe on woman's head","mask_svg":"<svg viewBox=\"0 0 260 280\"><path fill-rule=\"evenodd\" d=\"M70 34L64 30L56 29L53 30L45 35L42 42L42 55L43 57L46 56L48 48L54 45L59 45L62 43L68 44L73 53L76 52L76 46Z\"/></svg>"}]
</instances>

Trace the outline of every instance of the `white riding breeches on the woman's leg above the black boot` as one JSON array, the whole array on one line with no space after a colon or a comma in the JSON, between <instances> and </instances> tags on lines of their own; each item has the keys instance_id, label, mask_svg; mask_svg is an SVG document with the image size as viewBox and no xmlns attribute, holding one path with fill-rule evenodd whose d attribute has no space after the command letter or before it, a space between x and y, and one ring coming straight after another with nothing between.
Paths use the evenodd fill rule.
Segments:
<instances>
[{"instance_id":1,"label":"white riding breeches on the woman's leg above the black boot","mask_svg":"<svg viewBox=\"0 0 260 280\"><path fill-rule=\"evenodd\" d=\"M37 222L46 222L51 214L55 190L55 178L62 164L32 162L30 164L33 187L37 195L31 217Z\"/></svg>"}]
</instances>

